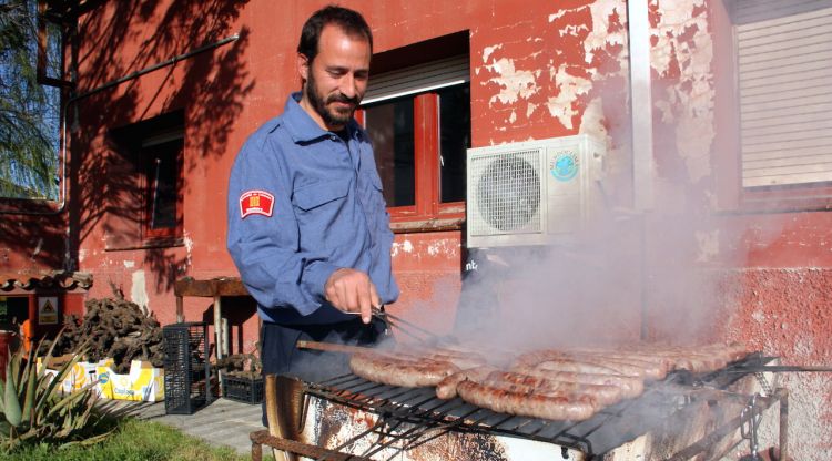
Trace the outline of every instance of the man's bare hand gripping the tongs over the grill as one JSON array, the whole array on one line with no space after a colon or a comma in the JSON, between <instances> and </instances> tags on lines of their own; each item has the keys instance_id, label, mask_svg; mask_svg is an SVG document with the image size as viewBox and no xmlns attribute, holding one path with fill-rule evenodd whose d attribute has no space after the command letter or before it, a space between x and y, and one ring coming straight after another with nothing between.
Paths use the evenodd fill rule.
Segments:
<instances>
[{"instance_id":1,"label":"man's bare hand gripping the tongs over the grill","mask_svg":"<svg viewBox=\"0 0 832 461\"><path fill-rule=\"evenodd\" d=\"M369 324L372 308L382 304L369 276L349 268L341 268L329 276L324 286L324 295L337 309L361 313L362 321L365 324Z\"/></svg>"}]
</instances>

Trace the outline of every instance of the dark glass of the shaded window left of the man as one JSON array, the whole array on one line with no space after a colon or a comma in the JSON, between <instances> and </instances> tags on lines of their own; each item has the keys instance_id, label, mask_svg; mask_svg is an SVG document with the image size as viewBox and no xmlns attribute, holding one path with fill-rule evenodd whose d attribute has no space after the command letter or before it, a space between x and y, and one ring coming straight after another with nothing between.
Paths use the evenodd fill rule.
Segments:
<instances>
[{"instance_id":1,"label":"dark glass of the shaded window left of the man","mask_svg":"<svg viewBox=\"0 0 832 461\"><path fill-rule=\"evenodd\" d=\"M176 227L176 198L179 181L177 156L182 141L146 147L148 203L150 204L149 228L170 229Z\"/></svg>"}]
</instances>

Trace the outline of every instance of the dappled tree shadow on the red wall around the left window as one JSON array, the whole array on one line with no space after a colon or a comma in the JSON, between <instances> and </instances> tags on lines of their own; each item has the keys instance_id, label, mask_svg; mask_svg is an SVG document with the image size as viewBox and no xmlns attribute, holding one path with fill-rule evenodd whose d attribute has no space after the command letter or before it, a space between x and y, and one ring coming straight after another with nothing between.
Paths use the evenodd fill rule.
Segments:
<instances>
[{"instance_id":1,"label":"dappled tree shadow on the red wall around the left window","mask_svg":"<svg viewBox=\"0 0 832 461\"><path fill-rule=\"evenodd\" d=\"M142 166L135 156L123 152L123 144L112 136L114 129L159 114L182 115L180 201L201 193L193 191L192 181L189 182L197 165L226 154L231 126L254 88L243 58L248 30L233 29L246 3L247 0L149 0L118 8L101 3L79 19L78 43L83 48L75 48L72 53L80 69L80 94L234 33L240 38L70 106L69 245L74 267L81 244L98 236L97 229L106 236L108 249L154 246L148 245L143 235L148 186L142 180ZM177 245L183 244L180 238ZM185 252L173 245L155 246L144 252L144 267L153 273L156 290L171 290L186 268Z\"/></svg>"}]
</instances>

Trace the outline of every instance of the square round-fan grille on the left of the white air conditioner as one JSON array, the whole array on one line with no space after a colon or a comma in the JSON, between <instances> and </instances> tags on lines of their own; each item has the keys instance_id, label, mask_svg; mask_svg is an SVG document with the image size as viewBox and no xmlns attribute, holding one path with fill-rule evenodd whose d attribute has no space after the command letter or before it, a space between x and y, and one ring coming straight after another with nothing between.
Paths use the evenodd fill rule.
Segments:
<instances>
[{"instance_id":1,"label":"square round-fan grille on the left of the white air conditioner","mask_svg":"<svg viewBox=\"0 0 832 461\"><path fill-rule=\"evenodd\" d=\"M528 150L473 162L479 215L469 223L473 235L541 232L539 157L539 150Z\"/></svg>"}]
</instances>

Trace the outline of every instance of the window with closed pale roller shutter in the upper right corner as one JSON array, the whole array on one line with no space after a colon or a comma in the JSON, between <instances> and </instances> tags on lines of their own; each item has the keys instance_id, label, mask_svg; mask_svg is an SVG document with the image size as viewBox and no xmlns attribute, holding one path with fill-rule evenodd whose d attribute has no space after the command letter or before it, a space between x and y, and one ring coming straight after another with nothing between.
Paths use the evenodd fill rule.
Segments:
<instances>
[{"instance_id":1,"label":"window with closed pale roller shutter in the upper right corner","mask_svg":"<svg viewBox=\"0 0 832 461\"><path fill-rule=\"evenodd\" d=\"M741 184L747 201L832 185L832 7L734 0Z\"/></svg>"}]
</instances>

